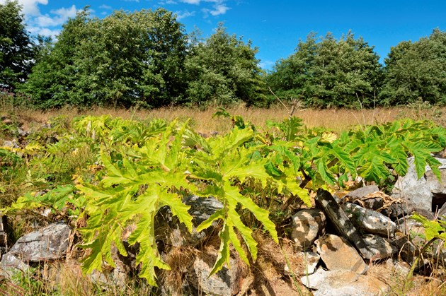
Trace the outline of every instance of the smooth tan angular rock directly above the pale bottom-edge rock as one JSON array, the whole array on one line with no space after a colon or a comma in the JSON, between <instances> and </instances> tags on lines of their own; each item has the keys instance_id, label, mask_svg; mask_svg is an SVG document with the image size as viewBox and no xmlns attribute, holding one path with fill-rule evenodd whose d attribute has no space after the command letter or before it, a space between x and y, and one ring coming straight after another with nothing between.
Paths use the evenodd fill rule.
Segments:
<instances>
[{"instance_id":1,"label":"smooth tan angular rock directly above the pale bottom-edge rock","mask_svg":"<svg viewBox=\"0 0 446 296\"><path fill-rule=\"evenodd\" d=\"M324 235L316 240L317 252L330 271L343 269L365 273L367 264L347 240L337 235Z\"/></svg>"}]
</instances>

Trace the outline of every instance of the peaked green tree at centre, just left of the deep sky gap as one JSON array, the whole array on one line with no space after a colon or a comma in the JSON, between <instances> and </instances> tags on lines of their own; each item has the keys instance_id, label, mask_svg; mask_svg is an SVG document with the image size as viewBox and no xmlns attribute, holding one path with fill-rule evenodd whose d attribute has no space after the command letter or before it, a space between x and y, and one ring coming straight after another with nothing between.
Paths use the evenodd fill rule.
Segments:
<instances>
[{"instance_id":1,"label":"peaked green tree at centre, just left of the deep sky gap","mask_svg":"<svg viewBox=\"0 0 446 296\"><path fill-rule=\"evenodd\" d=\"M196 42L186 60L188 102L246 105L265 102L263 71L256 59L257 48L236 35L229 35L222 23L205 42Z\"/></svg>"}]
</instances>

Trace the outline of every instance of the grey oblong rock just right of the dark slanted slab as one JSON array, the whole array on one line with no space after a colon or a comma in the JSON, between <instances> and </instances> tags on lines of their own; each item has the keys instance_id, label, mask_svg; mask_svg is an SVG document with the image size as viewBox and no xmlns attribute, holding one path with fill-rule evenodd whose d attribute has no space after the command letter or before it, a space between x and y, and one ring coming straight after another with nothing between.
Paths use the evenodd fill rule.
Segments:
<instances>
[{"instance_id":1,"label":"grey oblong rock just right of the dark slanted slab","mask_svg":"<svg viewBox=\"0 0 446 296\"><path fill-rule=\"evenodd\" d=\"M362 208L355 203L345 203L341 207L353 224L365 232L389 237L396 231L396 224L381 213Z\"/></svg>"}]
</instances>

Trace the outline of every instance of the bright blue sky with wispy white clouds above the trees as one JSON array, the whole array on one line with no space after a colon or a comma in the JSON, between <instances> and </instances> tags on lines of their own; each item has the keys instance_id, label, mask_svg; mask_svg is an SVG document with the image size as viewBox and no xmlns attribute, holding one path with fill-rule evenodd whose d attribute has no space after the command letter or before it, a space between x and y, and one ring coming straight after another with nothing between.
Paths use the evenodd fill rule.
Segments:
<instances>
[{"instance_id":1,"label":"bright blue sky with wispy white clouds above the trees","mask_svg":"<svg viewBox=\"0 0 446 296\"><path fill-rule=\"evenodd\" d=\"M4 3L6 0L0 0ZM311 31L319 36L332 32L338 38L352 30L374 45L381 60L390 47L404 40L416 41L434 28L446 30L446 0L425 1L264 1L264 0L19 0L28 30L57 35L62 23L76 10L91 6L93 16L103 17L115 9L135 11L164 7L177 13L190 32L194 28L208 37L224 22L231 34L243 36L258 47L263 69L294 52L299 39Z\"/></svg>"}]
</instances>

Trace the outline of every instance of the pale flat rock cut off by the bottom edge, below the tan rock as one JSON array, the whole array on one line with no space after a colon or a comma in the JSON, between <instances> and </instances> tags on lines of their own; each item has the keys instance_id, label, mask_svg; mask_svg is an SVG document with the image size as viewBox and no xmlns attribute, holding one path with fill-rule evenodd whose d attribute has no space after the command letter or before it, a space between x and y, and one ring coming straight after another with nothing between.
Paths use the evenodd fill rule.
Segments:
<instances>
[{"instance_id":1,"label":"pale flat rock cut off by the bottom edge, below the tan rock","mask_svg":"<svg viewBox=\"0 0 446 296\"><path fill-rule=\"evenodd\" d=\"M360 296L383 295L389 287L372 276L363 276L353 271L324 271L301 278L307 288L314 289L314 296Z\"/></svg>"}]
</instances>

